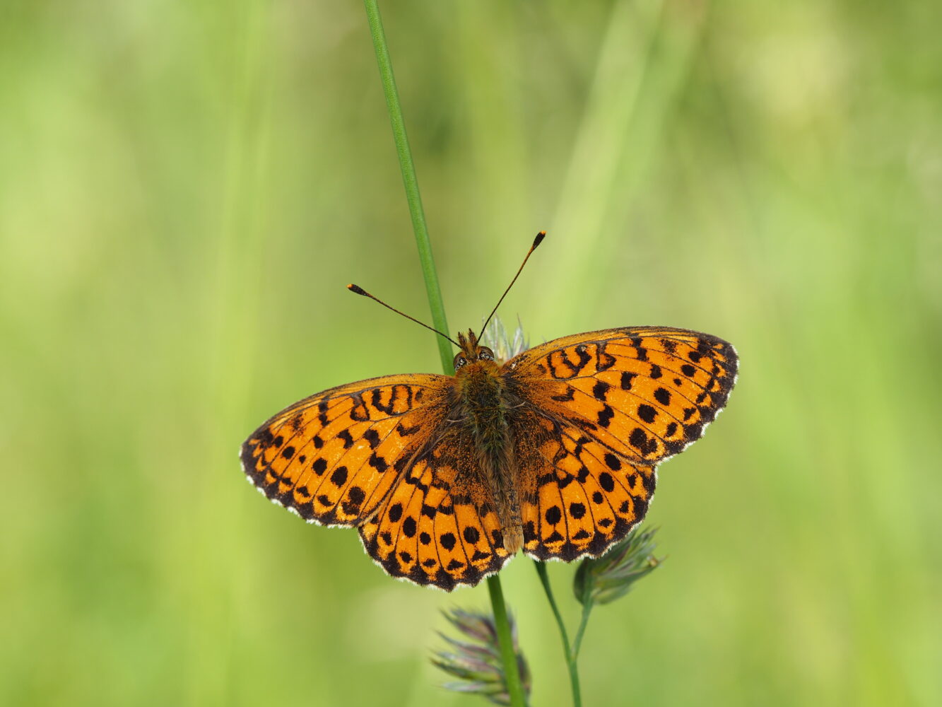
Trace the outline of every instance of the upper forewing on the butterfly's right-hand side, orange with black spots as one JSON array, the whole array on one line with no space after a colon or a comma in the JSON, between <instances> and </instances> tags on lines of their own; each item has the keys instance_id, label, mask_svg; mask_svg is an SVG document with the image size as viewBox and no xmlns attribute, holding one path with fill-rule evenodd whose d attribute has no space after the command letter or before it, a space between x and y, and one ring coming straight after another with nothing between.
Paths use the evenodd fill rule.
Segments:
<instances>
[{"instance_id":1,"label":"upper forewing on the butterfly's right-hand side, orange with black spots","mask_svg":"<svg viewBox=\"0 0 942 707\"><path fill-rule=\"evenodd\" d=\"M505 367L531 403L650 466L703 436L736 381L737 356L707 334L632 327L562 337Z\"/></svg>"}]
</instances>

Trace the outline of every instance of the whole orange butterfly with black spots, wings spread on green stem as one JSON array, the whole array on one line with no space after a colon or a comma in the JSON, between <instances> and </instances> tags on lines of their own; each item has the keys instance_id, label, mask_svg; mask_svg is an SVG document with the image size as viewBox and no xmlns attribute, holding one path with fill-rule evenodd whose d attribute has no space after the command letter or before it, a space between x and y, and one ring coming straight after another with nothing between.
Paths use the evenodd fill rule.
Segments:
<instances>
[{"instance_id":1,"label":"whole orange butterfly with black spots, wings spread on green stem","mask_svg":"<svg viewBox=\"0 0 942 707\"><path fill-rule=\"evenodd\" d=\"M671 327L562 337L502 364L472 331L457 344L454 376L371 378L268 419L242 445L252 484L309 522L359 528L394 577L474 585L520 550L571 561L624 538L655 467L703 436L737 374L731 344Z\"/></svg>"}]
</instances>

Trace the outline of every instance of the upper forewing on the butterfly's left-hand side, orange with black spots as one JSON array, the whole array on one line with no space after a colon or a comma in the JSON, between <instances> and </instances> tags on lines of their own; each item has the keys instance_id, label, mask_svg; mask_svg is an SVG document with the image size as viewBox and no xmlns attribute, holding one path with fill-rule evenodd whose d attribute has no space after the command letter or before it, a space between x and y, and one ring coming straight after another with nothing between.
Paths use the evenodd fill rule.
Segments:
<instances>
[{"instance_id":1,"label":"upper forewing on the butterfly's left-hand side, orange with black spots","mask_svg":"<svg viewBox=\"0 0 942 707\"><path fill-rule=\"evenodd\" d=\"M322 525L374 515L447 412L453 379L390 375L338 386L268 419L242 468L269 499Z\"/></svg>"}]
</instances>

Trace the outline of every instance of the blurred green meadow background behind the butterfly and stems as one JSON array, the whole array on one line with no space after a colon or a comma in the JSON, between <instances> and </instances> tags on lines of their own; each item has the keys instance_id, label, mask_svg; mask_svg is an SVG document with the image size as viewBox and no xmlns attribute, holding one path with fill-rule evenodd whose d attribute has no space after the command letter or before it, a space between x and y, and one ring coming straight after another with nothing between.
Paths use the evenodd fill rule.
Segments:
<instances>
[{"instance_id":1,"label":"blurred green meadow background behind the butterfly and stems","mask_svg":"<svg viewBox=\"0 0 942 707\"><path fill-rule=\"evenodd\" d=\"M660 474L668 561L593 616L587 704L942 703L938 3L382 3L453 330L732 340ZM472 705L440 608L236 450L437 371L363 7L0 8L0 702ZM574 567L551 577L576 617ZM530 562L502 573L568 704Z\"/></svg>"}]
</instances>

